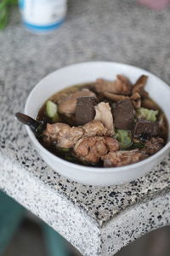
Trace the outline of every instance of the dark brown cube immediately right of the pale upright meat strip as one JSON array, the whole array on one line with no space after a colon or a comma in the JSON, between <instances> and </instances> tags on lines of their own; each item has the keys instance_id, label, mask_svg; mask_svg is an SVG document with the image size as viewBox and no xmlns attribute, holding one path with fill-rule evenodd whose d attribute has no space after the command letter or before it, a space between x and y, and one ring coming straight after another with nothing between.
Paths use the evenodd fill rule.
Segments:
<instances>
[{"instance_id":1,"label":"dark brown cube immediately right of the pale upright meat strip","mask_svg":"<svg viewBox=\"0 0 170 256\"><path fill-rule=\"evenodd\" d=\"M134 122L134 110L132 102L127 99L117 102L112 108L114 125L117 129L132 130Z\"/></svg>"}]
</instances>

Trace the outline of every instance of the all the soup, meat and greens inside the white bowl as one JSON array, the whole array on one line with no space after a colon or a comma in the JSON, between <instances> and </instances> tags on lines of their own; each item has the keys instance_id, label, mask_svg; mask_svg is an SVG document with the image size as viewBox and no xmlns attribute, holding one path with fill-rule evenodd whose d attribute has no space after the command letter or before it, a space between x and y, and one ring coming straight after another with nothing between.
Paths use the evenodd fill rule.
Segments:
<instances>
[{"instance_id":1,"label":"all the soup, meat and greens inside the white bowl","mask_svg":"<svg viewBox=\"0 0 170 256\"><path fill-rule=\"evenodd\" d=\"M126 166L156 154L167 142L167 119L144 90L117 75L60 90L45 102L37 120L45 123L43 147L85 166Z\"/></svg>"}]
</instances>

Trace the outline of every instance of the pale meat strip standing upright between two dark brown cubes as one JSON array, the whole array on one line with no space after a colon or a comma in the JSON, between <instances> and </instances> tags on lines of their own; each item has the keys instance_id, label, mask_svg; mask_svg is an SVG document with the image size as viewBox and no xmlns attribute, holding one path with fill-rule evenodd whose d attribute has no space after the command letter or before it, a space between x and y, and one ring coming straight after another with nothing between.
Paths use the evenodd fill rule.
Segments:
<instances>
[{"instance_id":1,"label":"pale meat strip standing upright between two dark brown cubes","mask_svg":"<svg viewBox=\"0 0 170 256\"><path fill-rule=\"evenodd\" d=\"M115 133L115 128L113 125L113 116L111 113L111 108L109 103L100 102L97 106L94 107L96 114L94 120L99 120L107 128L107 136L113 136Z\"/></svg>"}]
</instances>

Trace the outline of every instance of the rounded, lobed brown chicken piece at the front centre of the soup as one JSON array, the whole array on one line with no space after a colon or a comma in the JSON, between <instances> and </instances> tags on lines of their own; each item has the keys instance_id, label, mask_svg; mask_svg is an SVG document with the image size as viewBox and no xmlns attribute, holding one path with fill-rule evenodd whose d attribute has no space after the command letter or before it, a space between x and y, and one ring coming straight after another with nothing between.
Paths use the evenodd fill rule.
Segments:
<instances>
[{"instance_id":1,"label":"rounded, lobed brown chicken piece at the front centre of the soup","mask_svg":"<svg viewBox=\"0 0 170 256\"><path fill-rule=\"evenodd\" d=\"M74 146L74 153L80 160L97 164L110 151L118 150L119 143L111 137L83 137Z\"/></svg>"}]
</instances>

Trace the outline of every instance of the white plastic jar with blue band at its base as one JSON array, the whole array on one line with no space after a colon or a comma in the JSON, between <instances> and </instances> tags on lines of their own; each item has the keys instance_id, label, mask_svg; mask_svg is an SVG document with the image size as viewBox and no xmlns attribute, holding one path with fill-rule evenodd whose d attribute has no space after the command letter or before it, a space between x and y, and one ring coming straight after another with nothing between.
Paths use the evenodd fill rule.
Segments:
<instances>
[{"instance_id":1,"label":"white plastic jar with blue band at its base","mask_svg":"<svg viewBox=\"0 0 170 256\"><path fill-rule=\"evenodd\" d=\"M51 32L65 20L67 0L20 0L24 25L32 32Z\"/></svg>"}]
</instances>

